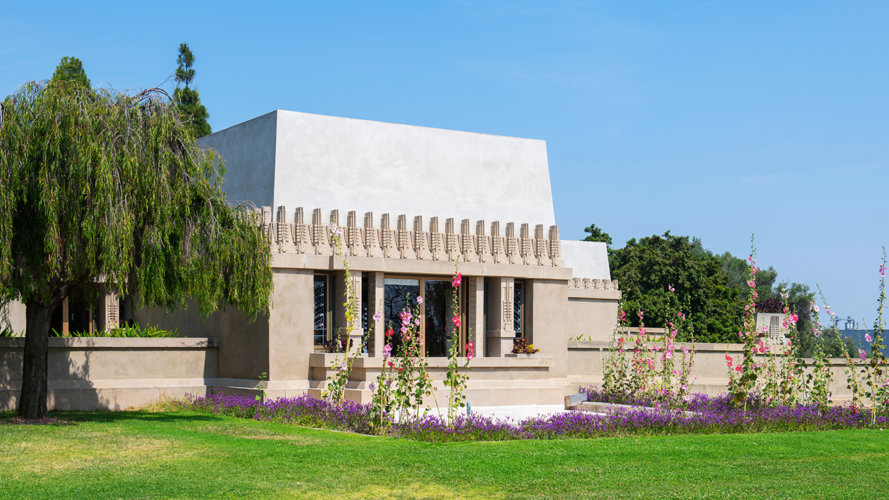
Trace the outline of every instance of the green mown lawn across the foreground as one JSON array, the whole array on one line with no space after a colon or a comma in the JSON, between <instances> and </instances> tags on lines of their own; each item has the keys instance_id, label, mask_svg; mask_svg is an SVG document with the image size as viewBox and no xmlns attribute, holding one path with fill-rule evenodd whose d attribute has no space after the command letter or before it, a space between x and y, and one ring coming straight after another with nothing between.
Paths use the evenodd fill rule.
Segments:
<instances>
[{"instance_id":1,"label":"green mown lawn across the foreground","mask_svg":"<svg viewBox=\"0 0 889 500\"><path fill-rule=\"evenodd\" d=\"M190 412L52 416L71 424L0 425L0 498L889 497L889 430L426 443Z\"/></svg>"}]
</instances>

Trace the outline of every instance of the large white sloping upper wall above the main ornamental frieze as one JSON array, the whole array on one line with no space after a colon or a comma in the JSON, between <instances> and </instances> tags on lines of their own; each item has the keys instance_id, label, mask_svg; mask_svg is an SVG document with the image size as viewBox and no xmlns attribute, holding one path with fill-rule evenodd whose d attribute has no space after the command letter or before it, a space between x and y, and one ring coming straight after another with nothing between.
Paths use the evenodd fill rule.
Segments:
<instances>
[{"instance_id":1,"label":"large white sloping upper wall above the main ornamental frieze","mask_svg":"<svg viewBox=\"0 0 889 500\"><path fill-rule=\"evenodd\" d=\"M556 223L546 141L278 109L200 142L255 206Z\"/></svg>"}]
</instances>

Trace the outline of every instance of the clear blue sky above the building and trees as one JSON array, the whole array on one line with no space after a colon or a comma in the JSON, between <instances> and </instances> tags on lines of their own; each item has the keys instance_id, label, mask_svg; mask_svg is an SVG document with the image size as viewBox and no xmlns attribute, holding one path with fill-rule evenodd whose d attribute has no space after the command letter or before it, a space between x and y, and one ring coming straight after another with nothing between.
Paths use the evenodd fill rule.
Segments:
<instances>
[{"instance_id":1,"label":"clear blue sky above the building and trees","mask_svg":"<svg viewBox=\"0 0 889 500\"><path fill-rule=\"evenodd\" d=\"M272 109L547 141L557 223L749 252L872 322L889 244L889 3L7 3L0 95L76 56L213 130ZM169 84L167 85L169 87Z\"/></svg>"}]
</instances>

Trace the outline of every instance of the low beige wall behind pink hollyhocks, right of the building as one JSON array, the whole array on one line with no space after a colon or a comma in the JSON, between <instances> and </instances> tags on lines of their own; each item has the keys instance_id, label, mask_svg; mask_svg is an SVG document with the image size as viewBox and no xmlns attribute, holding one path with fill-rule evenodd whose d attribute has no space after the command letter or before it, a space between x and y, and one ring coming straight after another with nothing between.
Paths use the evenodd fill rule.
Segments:
<instances>
[{"instance_id":1,"label":"low beige wall behind pink hollyhocks, right of the building","mask_svg":"<svg viewBox=\"0 0 889 500\"><path fill-rule=\"evenodd\" d=\"M683 346L691 348L691 343L676 343L677 351ZM694 366L690 378L697 377L692 384L692 392L717 395L728 391L728 368L725 365L727 353L735 361L742 358L742 343L695 343ZM582 384L602 383L602 359L610 351L609 344L603 341L568 341L568 374L570 378ZM630 355L630 354L628 354ZM679 352L678 356L682 353ZM804 359L809 366L812 359ZM857 360L857 359L856 359ZM833 380L830 383L832 399L842 403L852 399L852 391L846 388L845 359L829 359ZM679 361L677 359L677 369ZM863 363L859 362L858 367Z\"/></svg>"}]
</instances>

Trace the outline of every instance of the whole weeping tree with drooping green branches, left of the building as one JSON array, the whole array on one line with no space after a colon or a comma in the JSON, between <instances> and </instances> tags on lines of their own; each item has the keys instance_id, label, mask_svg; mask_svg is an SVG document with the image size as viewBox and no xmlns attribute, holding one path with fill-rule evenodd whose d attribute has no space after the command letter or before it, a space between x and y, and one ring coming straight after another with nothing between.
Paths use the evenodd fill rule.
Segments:
<instances>
[{"instance_id":1,"label":"whole weeping tree with drooping green branches, left of the building","mask_svg":"<svg viewBox=\"0 0 889 500\"><path fill-rule=\"evenodd\" d=\"M21 417L46 415L52 311L79 290L166 310L194 298L204 316L268 310L268 241L252 207L227 203L223 174L163 91L49 81L4 100L0 305L27 308Z\"/></svg>"}]
</instances>

